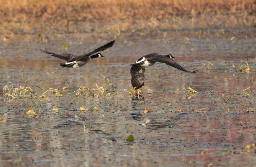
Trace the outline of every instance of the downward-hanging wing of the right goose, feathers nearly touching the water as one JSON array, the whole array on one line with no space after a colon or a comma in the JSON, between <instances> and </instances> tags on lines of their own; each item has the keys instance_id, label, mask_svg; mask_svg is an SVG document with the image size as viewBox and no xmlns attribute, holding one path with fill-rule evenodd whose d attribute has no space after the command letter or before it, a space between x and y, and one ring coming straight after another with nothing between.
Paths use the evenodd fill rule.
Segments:
<instances>
[{"instance_id":1,"label":"downward-hanging wing of the right goose, feathers nearly touching the water","mask_svg":"<svg viewBox=\"0 0 256 167\"><path fill-rule=\"evenodd\" d=\"M142 67L142 66L131 67L132 87L139 89L144 85L144 78L145 78L144 73L145 73L145 67Z\"/></svg>"}]
</instances>

